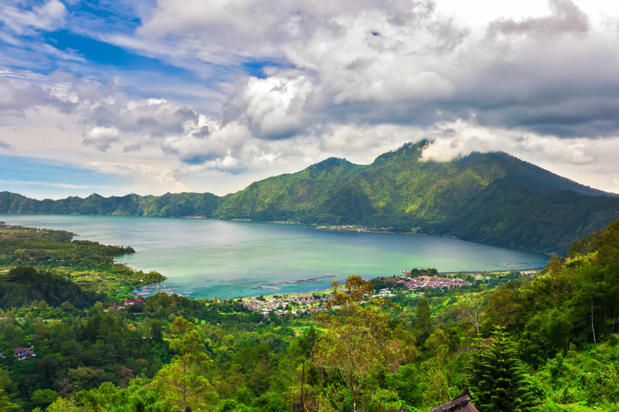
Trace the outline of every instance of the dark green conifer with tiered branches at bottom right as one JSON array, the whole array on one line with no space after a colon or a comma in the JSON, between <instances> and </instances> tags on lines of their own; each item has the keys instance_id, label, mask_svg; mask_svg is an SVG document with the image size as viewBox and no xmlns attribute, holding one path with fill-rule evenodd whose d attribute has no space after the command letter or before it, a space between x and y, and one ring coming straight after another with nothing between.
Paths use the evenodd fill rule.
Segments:
<instances>
[{"instance_id":1,"label":"dark green conifer with tiered branches at bottom right","mask_svg":"<svg viewBox=\"0 0 619 412\"><path fill-rule=\"evenodd\" d=\"M539 405L517 351L503 327L491 345L478 340L469 368L469 390L480 412L533 412Z\"/></svg>"}]
</instances>

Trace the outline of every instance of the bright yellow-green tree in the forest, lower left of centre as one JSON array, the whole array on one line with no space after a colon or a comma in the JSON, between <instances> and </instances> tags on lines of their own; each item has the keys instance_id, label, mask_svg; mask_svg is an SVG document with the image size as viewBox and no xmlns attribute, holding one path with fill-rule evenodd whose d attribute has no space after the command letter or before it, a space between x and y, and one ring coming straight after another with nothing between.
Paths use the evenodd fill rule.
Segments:
<instances>
[{"instance_id":1,"label":"bright yellow-green tree in the forest, lower left of centre","mask_svg":"<svg viewBox=\"0 0 619 412\"><path fill-rule=\"evenodd\" d=\"M170 342L170 350L177 351L178 355L174 356L170 364L163 366L157 378L163 382L166 392L170 393L176 405L186 411L189 403L206 403L212 386L203 375L212 361L203 352L204 343L191 322L178 316L170 329L175 334Z\"/></svg>"}]
</instances>

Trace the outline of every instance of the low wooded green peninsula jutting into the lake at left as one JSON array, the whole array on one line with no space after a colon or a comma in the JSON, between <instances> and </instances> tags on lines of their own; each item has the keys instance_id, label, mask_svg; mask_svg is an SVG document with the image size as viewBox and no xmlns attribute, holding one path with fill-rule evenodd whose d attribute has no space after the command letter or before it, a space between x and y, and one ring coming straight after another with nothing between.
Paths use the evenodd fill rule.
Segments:
<instances>
[{"instance_id":1,"label":"low wooded green peninsula jutting into the lake at left","mask_svg":"<svg viewBox=\"0 0 619 412\"><path fill-rule=\"evenodd\" d=\"M30 305L44 296L54 306L71 301L82 308L101 300L101 293L120 298L129 296L136 285L165 279L157 272L134 271L115 263L115 256L135 253L131 246L73 240L75 235L0 222L0 308ZM14 267L19 269L7 275Z\"/></svg>"}]
</instances>

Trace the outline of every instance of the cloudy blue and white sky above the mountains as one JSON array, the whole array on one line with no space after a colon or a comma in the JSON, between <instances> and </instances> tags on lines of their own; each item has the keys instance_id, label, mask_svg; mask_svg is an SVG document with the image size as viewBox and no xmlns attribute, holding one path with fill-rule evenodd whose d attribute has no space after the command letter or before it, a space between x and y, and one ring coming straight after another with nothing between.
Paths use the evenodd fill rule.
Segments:
<instances>
[{"instance_id":1,"label":"cloudy blue and white sky above the mountains","mask_svg":"<svg viewBox=\"0 0 619 412\"><path fill-rule=\"evenodd\" d=\"M619 193L619 2L3 0L0 191L225 195L505 151Z\"/></svg>"}]
</instances>

